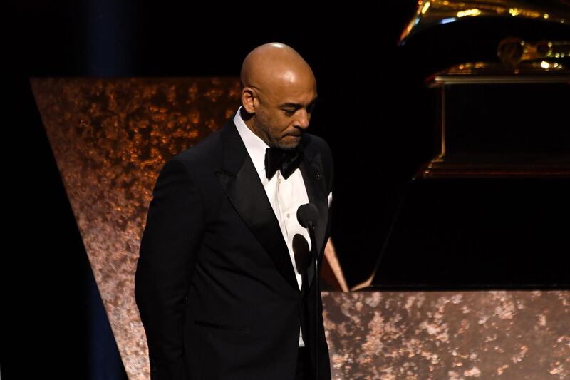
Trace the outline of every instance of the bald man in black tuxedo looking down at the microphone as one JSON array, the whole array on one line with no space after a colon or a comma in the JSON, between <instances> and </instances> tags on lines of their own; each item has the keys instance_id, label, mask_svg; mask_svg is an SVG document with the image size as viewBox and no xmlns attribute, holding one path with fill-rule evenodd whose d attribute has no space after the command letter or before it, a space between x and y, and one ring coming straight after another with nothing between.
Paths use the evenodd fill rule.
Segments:
<instances>
[{"instance_id":1,"label":"bald man in black tuxedo looking down at the microphone","mask_svg":"<svg viewBox=\"0 0 570 380\"><path fill-rule=\"evenodd\" d=\"M241 80L237 113L168 160L154 188L135 275L153 380L314 379L316 362L318 379L331 378L311 239L296 217L316 206L320 263L333 162L306 133L314 73L268 43Z\"/></svg>"}]
</instances>

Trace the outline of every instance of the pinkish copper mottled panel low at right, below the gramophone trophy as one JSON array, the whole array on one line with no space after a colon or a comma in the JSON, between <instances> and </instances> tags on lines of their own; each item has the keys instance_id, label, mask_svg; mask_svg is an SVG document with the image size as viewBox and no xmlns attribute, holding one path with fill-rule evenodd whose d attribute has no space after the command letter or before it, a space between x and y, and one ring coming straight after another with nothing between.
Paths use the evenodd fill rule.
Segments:
<instances>
[{"instance_id":1,"label":"pinkish copper mottled panel low at right, below the gramophone trophy","mask_svg":"<svg viewBox=\"0 0 570 380\"><path fill-rule=\"evenodd\" d=\"M324 293L333 379L570 379L570 292Z\"/></svg>"}]
</instances>

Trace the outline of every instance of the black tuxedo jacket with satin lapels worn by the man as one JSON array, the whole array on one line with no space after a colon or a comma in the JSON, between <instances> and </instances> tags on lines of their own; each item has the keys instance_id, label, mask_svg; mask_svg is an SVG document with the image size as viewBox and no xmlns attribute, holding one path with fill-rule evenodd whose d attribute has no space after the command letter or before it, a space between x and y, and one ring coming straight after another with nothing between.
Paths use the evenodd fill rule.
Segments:
<instances>
[{"instance_id":1,"label":"black tuxedo jacket with satin lapels worn by the man","mask_svg":"<svg viewBox=\"0 0 570 380\"><path fill-rule=\"evenodd\" d=\"M331 151L304 134L300 170L319 212L316 247L329 236ZM312 262L313 260L311 260ZM320 267L320 266L319 266ZM151 378L294 379L299 326L319 377L330 361L314 265L299 290L289 250L232 120L165 163L153 191L135 274Z\"/></svg>"}]
</instances>

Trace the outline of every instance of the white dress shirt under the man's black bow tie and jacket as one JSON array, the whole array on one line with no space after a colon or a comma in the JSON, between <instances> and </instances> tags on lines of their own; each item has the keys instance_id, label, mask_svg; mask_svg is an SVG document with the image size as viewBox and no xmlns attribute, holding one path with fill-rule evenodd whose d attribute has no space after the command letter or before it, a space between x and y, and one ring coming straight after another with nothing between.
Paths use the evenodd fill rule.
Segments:
<instances>
[{"instance_id":1,"label":"white dress shirt under the man's black bow tie and jacket","mask_svg":"<svg viewBox=\"0 0 570 380\"><path fill-rule=\"evenodd\" d=\"M281 175L281 170L277 170L271 179L267 178L265 174L265 150L269 148L269 145L253 133L247 125L245 125L244 120L240 115L241 109L242 108L240 107L237 111L234 117L234 123L244 142L247 153L254 163L255 170L257 170L257 174L263 184L269 203L271 203L271 207L273 208L277 221L279 222L281 233L283 234L283 238L287 244L287 248L289 249L289 257L291 257L291 263L295 270L297 284L299 284L299 289L301 289L302 278L301 273L299 273L299 270L297 270L295 265L293 237L297 234L303 236L309 245L309 250L311 249L309 231L299 225L299 221L297 221L297 209L299 206L309 203L309 197L307 196L303 176L301 175L301 170L297 168L287 179ZM331 200L332 193L328 195L329 206L331 205ZM300 330L299 346L305 346L303 334Z\"/></svg>"}]
</instances>

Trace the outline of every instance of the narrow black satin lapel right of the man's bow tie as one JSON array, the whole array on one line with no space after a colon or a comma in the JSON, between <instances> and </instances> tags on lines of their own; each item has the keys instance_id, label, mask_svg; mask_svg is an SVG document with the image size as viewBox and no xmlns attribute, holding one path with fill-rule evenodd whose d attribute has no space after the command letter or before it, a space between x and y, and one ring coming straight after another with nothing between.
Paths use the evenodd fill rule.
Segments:
<instances>
[{"instance_id":1,"label":"narrow black satin lapel right of the man's bow tie","mask_svg":"<svg viewBox=\"0 0 570 380\"><path fill-rule=\"evenodd\" d=\"M323 179L323 163L321 154L311 155L311 152L305 150L305 156L299 165L309 203L316 206L318 210L318 223L315 227L316 252L320 254L323 250L323 244L326 234L326 221L328 220L328 198L326 194L326 185ZM314 277L314 260L307 269L307 288L311 285Z\"/></svg>"}]
</instances>

